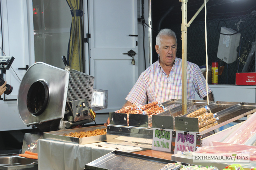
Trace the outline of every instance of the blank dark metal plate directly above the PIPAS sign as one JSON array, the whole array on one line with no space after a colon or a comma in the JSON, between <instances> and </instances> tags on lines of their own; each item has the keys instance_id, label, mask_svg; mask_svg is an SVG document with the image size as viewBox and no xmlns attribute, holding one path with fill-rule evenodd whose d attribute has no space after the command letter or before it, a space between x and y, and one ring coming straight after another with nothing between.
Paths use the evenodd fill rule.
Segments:
<instances>
[{"instance_id":1,"label":"blank dark metal plate directly above the PIPAS sign","mask_svg":"<svg viewBox=\"0 0 256 170\"><path fill-rule=\"evenodd\" d=\"M175 117L175 129L185 132L199 132L198 119L192 117Z\"/></svg>"}]
</instances>

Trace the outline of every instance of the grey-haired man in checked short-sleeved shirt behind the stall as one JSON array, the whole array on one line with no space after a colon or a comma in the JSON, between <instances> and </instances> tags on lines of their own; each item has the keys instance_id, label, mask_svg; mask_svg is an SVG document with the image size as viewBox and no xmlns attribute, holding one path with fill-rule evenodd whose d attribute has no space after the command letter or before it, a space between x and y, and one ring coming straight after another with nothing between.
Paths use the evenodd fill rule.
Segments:
<instances>
[{"instance_id":1,"label":"grey-haired man in checked short-sleeved shirt behind the stall","mask_svg":"<svg viewBox=\"0 0 256 170\"><path fill-rule=\"evenodd\" d=\"M125 98L123 107L131 104L145 105L157 101L182 99L182 59L176 58L177 38L171 29L162 29L156 36L158 61L141 73L136 84ZM187 62L187 99L195 100L195 91L207 100L206 80L199 67ZM213 100L208 86L209 100ZM109 123L109 120L107 121Z\"/></svg>"}]
</instances>

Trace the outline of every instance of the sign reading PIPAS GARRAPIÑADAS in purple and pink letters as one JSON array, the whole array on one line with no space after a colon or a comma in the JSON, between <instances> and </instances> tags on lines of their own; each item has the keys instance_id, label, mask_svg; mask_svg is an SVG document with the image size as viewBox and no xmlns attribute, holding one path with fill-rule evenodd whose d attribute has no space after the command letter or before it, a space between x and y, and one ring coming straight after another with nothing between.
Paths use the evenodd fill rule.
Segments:
<instances>
[{"instance_id":1,"label":"sign reading PIPAS GARRAPI\u00d1ADAS in purple and pink letters","mask_svg":"<svg viewBox=\"0 0 256 170\"><path fill-rule=\"evenodd\" d=\"M196 132L184 132L176 130L174 154L176 154L178 151L196 151Z\"/></svg>"}]
</instances>

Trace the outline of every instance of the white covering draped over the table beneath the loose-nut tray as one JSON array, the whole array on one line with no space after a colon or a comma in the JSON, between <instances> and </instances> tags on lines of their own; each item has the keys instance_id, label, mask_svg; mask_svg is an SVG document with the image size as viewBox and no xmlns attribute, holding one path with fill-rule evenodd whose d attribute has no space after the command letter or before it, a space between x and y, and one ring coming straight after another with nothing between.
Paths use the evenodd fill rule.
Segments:
<instances>
[{"instance_id":1,"label":"white covering draped over the table beneath the loose-nut tray","mask_svg":"<svg viewBox=\"0 0 256 170\"><path fill-rule=\"evenodd\" d=\"M38 169L42 170L82 170L85 164L115 150L141 151L140 147L107 144L106 142L71 144L46 139L40 139L38 142Z\"/></svg>"}]
</instances>

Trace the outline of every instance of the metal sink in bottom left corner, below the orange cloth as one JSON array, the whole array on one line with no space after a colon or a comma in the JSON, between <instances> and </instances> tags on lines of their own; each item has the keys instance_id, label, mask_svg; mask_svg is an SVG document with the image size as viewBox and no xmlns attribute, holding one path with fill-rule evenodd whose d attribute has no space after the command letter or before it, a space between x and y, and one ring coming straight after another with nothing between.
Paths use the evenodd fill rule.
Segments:
<instances>
[{"instance_id":1,"label":"metal sink in bottom left corner, below the orange cloth","mask_svg":"<svg viewBox=\"0 0 256 170\"><path fill-rule=\"evenodd\" d=\"M29 169L37 170L37 159L29 159L20 157L19 154L2 154L0 155L0 169L4 170L18 170Z\"/></svg>"}]
</instances>

